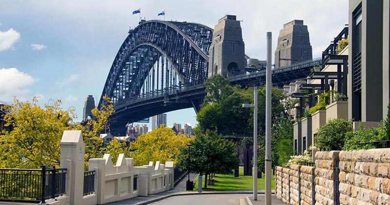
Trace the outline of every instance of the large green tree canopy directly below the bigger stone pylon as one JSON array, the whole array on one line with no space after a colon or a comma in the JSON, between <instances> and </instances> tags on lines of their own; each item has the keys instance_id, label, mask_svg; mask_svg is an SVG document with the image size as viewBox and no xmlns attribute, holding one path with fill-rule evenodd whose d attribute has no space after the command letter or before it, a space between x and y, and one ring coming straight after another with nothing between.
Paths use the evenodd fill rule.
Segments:
<instances>
[{"instance_id":1,"label":"large green tree canopy directly below the bigger stone pylon","mask_svg":"<svg viewBox=\"0 0 390 205\"><path fill-rule=\"evenodd\" d=\"M229 85L229 80L215 75L205 82L207 96L202 109L196 115L198 128L205 131L218 130L224 135L247 133L253 130L253 110L243 108L243 103L254 103L253 87L241 88ZM258 89L258 128L265 128L266 88ZM282 90L272 89L272 121L284 112L281 100L285 97ZM252 132L253 133L253 132Z\"/></svg>"}]
</instances>

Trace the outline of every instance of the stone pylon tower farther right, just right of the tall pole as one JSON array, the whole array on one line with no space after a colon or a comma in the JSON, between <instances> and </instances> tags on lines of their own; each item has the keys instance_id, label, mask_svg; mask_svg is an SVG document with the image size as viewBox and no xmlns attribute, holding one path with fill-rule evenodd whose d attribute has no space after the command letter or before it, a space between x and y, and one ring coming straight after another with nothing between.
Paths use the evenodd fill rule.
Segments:
<instances>
[{"instance_id":1,"label":"stone pylon tower farther right, just right of the tall pole","mask_svg":"<svg viewBox=\"0 0 390 205\"><path fill-rule=\"evenodd\" d=\"M275 68L311 59L312 46L310 45L308 26L303 25L302 20L285 23L277 39Z\"/></svg>"}]
</instances>

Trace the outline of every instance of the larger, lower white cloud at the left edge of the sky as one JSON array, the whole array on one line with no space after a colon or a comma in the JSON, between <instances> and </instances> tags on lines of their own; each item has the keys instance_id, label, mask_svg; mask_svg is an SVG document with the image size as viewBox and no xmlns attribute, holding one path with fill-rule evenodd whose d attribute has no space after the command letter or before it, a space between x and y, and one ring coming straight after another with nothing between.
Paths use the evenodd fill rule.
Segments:
<instances>
[{"instance_id":1,"label":"larger, lower white cloud at the left edge of the sky","mask_svg":"<svg viewBox=\"0 0 390 205\"><path fill-rule=\"evenodd\" d=\"M38 79L20 72L17 68L0 69L0 100L12 102L14 96L20 100L25 99L25 95L29 93L26 87L36 81Z\"/></svg>"}]
</instances>

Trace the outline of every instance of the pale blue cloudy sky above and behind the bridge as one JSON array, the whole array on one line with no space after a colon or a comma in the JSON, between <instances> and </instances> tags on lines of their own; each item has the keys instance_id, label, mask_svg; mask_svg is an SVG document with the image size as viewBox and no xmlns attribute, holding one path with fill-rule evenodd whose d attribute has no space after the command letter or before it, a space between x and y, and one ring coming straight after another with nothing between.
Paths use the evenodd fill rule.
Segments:
<instances>
[{"instance_id":1,"label":"pale blue cloudy sky above and behind the bridge","mask_svg":"<svg viewBox=\"0 0 390 205\"><path fill-rule=\"evenodd\" d=\"M129 26L142 18L197 22L214 28L225 14L241 20L245 53L265 60L266 32L273 50L283 24L308 26L313 56L348 23L347 0L0 0L0 101L13 96L40 102L60 99L76 107L87 95L99 99ZM196 124L193 109L168 113L168 125Z\"/></svg>"}]
</instances>

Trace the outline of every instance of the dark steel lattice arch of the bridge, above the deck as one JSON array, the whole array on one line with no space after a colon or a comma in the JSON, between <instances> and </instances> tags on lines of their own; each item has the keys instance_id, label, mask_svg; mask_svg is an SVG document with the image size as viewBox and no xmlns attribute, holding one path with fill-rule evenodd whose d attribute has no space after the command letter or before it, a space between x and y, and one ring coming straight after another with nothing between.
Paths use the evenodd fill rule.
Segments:
<instances>
[{"instance_id":1,"label":"dark steel lattice arch of the bridge, above the deck","mask_svg":"<svg viewBox=\"0 0 390 205\"><path fill-rule=\"evenodd\" d=\"M129 32L122 43L105 82L99 105L108 96L114 107L123 107L134 101L167 94L172 90L202 84L207 79L209 47L213 38L210 27L187 22L146 21ZM155 77L155 67L161 68L156 85L145 85ZM165 65L165 68L164 68ZM178 79L165 79L170 72ZM158 79L158 71L157 71ZM159 87L161 85L161 87ZM181 87L182 86L182 87ZM151 90L146 95L141 89Z\"/></svg>"}]
</instances>

